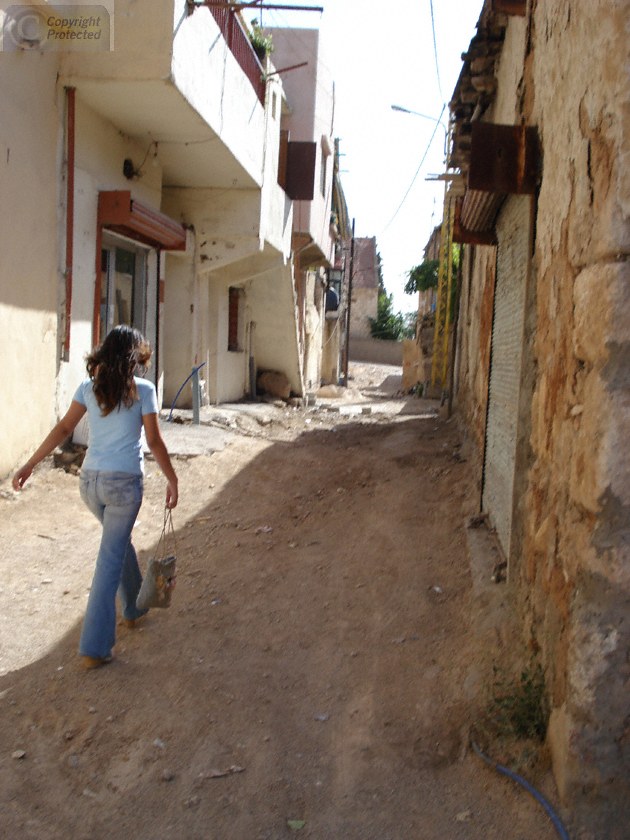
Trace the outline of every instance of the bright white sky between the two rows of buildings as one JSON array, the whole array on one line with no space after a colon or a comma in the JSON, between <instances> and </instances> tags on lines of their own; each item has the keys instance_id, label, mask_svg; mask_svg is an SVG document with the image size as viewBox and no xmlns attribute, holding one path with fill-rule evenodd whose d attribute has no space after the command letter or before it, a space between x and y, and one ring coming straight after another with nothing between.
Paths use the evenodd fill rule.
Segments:
<instances>
[{"instance_id":1,"label":"bright white sky between the two rows of buildings","mask_svg":"<svg viewBox=\"0 0 630 840\"><path fill-rule=\"evenodd\" d=\"M444 171L445 130L437 120L451 98L483 0L272 1L324 7L323 13L255 14L259 20L262 14L263 26L320 30L324 63L335 80L334 133L355 235L376 237L394 309L415 310L417 295L403 291L405 273L422 262L431 231L442 221L444 185L425 180ZM433 119L395 112L392 105ZM448 104L442 122L448 124Z\"/></svg>"}]
</instances>

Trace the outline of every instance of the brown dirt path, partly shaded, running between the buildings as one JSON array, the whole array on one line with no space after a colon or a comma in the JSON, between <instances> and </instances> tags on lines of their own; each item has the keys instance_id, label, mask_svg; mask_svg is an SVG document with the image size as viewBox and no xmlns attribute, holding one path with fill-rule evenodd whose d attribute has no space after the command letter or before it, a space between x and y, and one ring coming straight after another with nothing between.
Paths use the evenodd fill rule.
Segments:
<instances>
[{"instance_id":1,"label":"brown dirt path, partly shaded, running between the buildings","mask_svg":"<svg viewBox=\"0 0 630 840\"><path fill-rule=\"evenodd\" d=\"M384 396L374 371L357 368L364 398ZM121 626L98 671L75 653L98 541L76 478L3 485L0 837L555 837L468 748L487 669L454 424L277 411L178 462L174 604ZM148 475L141 562L163 498Z\"/></svg>"}]
</instances>

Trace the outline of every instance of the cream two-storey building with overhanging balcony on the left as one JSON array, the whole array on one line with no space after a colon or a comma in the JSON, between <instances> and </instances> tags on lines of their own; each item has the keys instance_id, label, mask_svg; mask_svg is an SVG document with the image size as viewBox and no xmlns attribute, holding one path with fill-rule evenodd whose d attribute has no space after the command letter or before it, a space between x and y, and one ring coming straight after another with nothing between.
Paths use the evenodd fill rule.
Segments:
<instances>
[{"instance_id":1,"label":"cream two-storey building with overhanging balcony on the left","mask_svg":"<svg viewBox=\"0 0 630 840\"><path fill-rule=\"evenodd\" d=\"M202 364L206 401L249 393L256 369L302 393L281 77L264 74L231 10L115 11L113 51L29 40L0 53L0 475L67 409L116 323L151 340L147 375L167 404ZM1 14L5 35L19 31ZM284 175L303 170L289 161ZM300 204L322 228L323 198L312 213ZM317 241L328 255L327 227Z\"/></svg>"}]
</instances>

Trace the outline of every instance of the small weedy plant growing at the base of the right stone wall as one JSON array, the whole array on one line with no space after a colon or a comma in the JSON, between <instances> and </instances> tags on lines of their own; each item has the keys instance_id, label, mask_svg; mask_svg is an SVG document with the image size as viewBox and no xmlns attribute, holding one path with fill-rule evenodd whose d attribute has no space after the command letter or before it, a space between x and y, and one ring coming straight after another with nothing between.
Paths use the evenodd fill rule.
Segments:
<instances>
[{"instance_id":1,"label":"small weedy plant growing at the base of the right stone wall","mask_svg":"<svg viewBox=\"0 0 630 840\"><path fill-rule=\"evenodd\" d=\"M545 672L532 660L520 680L506 682L495 668L492 688L492 717L499 732L542 743L549 722Z\"/></svg>"}]
</instances>

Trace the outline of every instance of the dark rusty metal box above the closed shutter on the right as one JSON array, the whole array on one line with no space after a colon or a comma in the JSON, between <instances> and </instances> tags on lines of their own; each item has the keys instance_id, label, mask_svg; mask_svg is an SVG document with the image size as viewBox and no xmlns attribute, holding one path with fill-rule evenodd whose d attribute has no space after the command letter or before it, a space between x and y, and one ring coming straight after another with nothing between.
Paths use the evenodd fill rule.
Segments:
<instances>
[{"instance_id":1,"label":"dark rusty metal box above the closed shutter on the right","mask_svg":"<svg viewBox=\"0 0 630 840\"><path fill-rule=\"evenodd\" d=\"M469 189L504 195L532 194L536 192L538 169L535 128L472 124Z\"/></svg>"}]
</instances>

